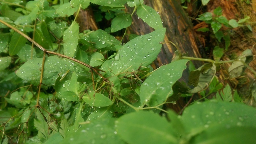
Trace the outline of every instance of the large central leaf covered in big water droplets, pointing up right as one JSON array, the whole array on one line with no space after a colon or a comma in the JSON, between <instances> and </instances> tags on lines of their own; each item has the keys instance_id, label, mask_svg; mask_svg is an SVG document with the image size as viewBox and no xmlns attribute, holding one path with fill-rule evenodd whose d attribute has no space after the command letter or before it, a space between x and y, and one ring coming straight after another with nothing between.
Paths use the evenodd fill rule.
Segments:
<instances>
[{"instance_id":1,"label":"large central leaf covered in big water droplets, pointing up right","mask_svg":"<svg viewBox=\"0 0 256 144\"><path fill-rule=\"evenodd\" d=\"M140 66L146 67L151 64L161 51L162 45L159 42L163 41L165 28L158 29L147 35L142 35L132 39L117 52L114 60L105 61L101 69L110 71L112 75L123 76L123 72L132 72ZM121 74L122 73L122 74Z\"/></svg>"}]
</instances>

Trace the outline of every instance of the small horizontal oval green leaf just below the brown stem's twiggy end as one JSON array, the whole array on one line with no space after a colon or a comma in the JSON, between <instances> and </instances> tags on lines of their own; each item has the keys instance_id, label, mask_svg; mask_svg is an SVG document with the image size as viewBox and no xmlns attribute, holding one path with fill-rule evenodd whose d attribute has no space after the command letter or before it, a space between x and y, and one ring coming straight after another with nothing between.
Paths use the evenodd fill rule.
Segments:
<instances>
[{"instance_id":1,"label":"small horizontal oval green leaf just below the brown stem's twiggy end","mask_svg":"<svg viewBox=\"0 0 256 144\"><path fill-rule=\"evenodd\" d=\"M90 106L95 106L95 107L106 107L113 103L108 97L100 93L94 93L94 92L91 92L83 96L83 100Z\"/></svg>"}]
</instances>

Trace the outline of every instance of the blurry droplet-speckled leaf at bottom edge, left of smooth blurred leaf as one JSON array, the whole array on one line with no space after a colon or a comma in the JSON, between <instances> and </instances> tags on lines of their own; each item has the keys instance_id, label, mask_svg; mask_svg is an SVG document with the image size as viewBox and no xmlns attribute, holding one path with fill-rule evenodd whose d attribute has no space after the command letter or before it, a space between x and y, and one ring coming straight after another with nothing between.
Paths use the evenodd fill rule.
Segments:
<instances>
[{"instance_id":1,"label":"blurry droplet-speckled leaf at bottom edge, left of smooth blurred leaf","mask_svg":"<svg viewBox=\"0 0 256 144\"><path fill-rule=\"evenodd\" d=\"M125 144L114 131L114 120L97 119L90 123L81 123L81 127L67 135L61 144Z\"/></svg>"}]
</instances>

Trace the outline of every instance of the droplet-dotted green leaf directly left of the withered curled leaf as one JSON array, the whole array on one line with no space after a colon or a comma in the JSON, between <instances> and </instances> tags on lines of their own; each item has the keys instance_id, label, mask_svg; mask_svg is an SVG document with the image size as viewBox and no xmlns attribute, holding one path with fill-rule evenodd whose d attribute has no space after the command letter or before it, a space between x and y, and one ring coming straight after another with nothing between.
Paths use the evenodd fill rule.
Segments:
<instances>
[{"instance_id":1,"label":"droplet-dotted green leaf directly left of the withered curled leaf","mask_svg":"<svg viewBox=\"0 0 256 144\"><path fill-rule=\"evenodd\" d=\"M181 78L188 60L177 60L154 71L140 87L142 105L155 106L172 96L172 86Z\"/></svg>"}]
</instances>

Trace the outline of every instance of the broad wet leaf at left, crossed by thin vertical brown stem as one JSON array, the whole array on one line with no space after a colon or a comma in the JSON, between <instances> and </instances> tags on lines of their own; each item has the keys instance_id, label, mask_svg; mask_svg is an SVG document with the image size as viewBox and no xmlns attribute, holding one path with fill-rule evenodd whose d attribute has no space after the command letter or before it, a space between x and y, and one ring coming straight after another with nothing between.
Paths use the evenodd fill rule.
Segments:
<instances>
[{"instance_id":1,"label":"broad wet leaf at left, crossed by thin vertical brown stem","mask_svg":"<svg viewBox=\"0 0 256 144\"><path fill-rule=\"evenodd\" d=\"M27 61L16 71L16 75L18 75L23 80L26 80L29 83L38 86L41 75L42 60L42 58L35 58ZM59 74L62 75L68 70L70 70L71 72L75 71L78 76L91 77L89 72L87 72L80 65L73 63L67 59L60 59L57 56L50 56L46 57L45 59L42 87L47 88L47 86L55 84L57 78L59 77ZM68 75L72 75L72 73L68 73Z\"/></svg>"}]
</instances>

